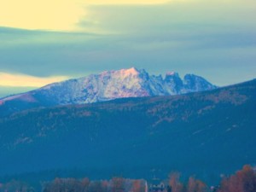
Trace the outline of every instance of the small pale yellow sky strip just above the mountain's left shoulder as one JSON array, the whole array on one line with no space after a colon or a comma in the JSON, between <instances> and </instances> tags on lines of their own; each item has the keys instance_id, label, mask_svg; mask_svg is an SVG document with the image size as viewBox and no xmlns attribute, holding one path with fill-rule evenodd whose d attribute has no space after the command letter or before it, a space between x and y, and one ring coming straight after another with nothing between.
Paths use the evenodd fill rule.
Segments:
<instances>
[{"instance_id":1,"label":"small pale yellow sky strip just above the mountain's left shoulder","mask_svg":"<svg viewBox=\"0 0 256 192\"><path fill-rule=\"evenodd\" d=\"M0 73L0 86L42 87L45 84L68 79L64 76L38 78L24 74Z\"/></svg>"}]
</instances>

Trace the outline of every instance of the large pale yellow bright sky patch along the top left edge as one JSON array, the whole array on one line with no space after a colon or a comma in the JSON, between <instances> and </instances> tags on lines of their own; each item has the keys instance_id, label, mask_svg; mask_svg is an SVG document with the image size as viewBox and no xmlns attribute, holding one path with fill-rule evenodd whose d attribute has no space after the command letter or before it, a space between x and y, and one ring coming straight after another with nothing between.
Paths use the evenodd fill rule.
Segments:
<instances>
[{"instance_id":1,"label":"large pale yellow bright sky patch along the top left edge","mask_svg":"<svg viewBox=\"0 0 256 192\"><path fill-rule=\"evenodd\" d=\"M0 6L0 26L29 30L75 31L86 7L102 4L155 4L167 0L8 0Z\"/></svg>"}]
</instances>

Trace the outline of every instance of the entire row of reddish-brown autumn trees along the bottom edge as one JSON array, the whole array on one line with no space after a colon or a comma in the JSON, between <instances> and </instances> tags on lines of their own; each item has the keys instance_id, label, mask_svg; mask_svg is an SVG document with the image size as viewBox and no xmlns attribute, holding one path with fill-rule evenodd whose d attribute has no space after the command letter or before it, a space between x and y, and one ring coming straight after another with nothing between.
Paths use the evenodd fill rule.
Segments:
<instances>
[{"instance_id":1,"label":"entire row of reddish-brown autumn trees along the bottom edge","mask_svg":"<svg viewBox=\"0 0 256 192\"><path fill-rule=\"evenodd\" d=\"M34 189L28 183L10 181L0 182L0 192L256 192L256 172L252 166L243 166L241 171L230 177L223 177L218 186L207 186L195 177L183 181L180 174L173 172L162 182L164 188L143 179L113 177L110 180L90 181L89 178L55 178L41 183L41 189ZM152 187L154 186L154 187Z\"/></svg>"}]
</instances>

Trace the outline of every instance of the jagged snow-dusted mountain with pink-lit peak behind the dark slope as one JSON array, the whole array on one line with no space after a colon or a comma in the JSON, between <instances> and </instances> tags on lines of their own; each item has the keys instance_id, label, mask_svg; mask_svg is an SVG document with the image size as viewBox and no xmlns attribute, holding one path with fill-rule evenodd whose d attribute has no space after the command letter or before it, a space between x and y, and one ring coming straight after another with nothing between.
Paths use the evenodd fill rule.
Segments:
<instances>
[{"instance_id":1,"label":"jagged snow-dusted mountain with pink-lit peak behind the dark slope","mask_svg":"<svg viewBox=\"0 0 256 192\"><path fill-rule=\"evenodd\" d=\"M0 100L0 106L3 108L3 105L14 103L15 106L9 108L19 111L20 105L26 109L103 102L125 97L179 95L215 88L206 79L193 74L180 79L177 73L166 73L163 79L161 75L149 75L143 69L132 67L49 84L38 90L5 97Z\"/></svg>"}]
</instances>

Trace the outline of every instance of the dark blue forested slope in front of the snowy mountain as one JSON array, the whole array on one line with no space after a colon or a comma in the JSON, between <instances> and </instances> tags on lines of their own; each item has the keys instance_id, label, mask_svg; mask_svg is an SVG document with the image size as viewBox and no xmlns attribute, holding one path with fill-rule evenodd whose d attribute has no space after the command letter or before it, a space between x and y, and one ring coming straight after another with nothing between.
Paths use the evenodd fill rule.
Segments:
<instances>
[{"instance_id":1,"label":"dark blue forested slope in front of the snowy mountain","mask_svg":"<svg viewBox=\"0 0 256 192\"><path fill-rule=\"evenodd\" d=\"M182 96L32 109L0 119L0 172L234 172L256 163L255 119L256 80Z\"/></svg>"}]
</instances>

